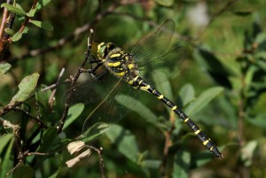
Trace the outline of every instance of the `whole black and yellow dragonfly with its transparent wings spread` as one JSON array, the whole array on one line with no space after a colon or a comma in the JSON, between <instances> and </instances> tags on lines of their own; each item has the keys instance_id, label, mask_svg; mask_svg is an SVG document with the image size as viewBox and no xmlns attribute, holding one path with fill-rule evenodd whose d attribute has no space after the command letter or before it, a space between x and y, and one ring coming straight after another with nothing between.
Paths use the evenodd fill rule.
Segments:
<instances>
[{"instance_id":1,"label":"whole black and yellow dragonfly with its transparent wings spread","mask_svg":"<svg viewBox=\"0 0 266 178\"><path fill-rule=\"evenodd\" d=\"M90 80L76 87L73 93L75 103L100 100L84 121L82 129L85 132L90 128L91 131L92 128L98 129L102 123L121 120L134 108L140 91L146 91L184 120L201 143L222 159L223 155L215 143L174 102L153 87L173 76L184 61L184 47L169 47L175 28L173 19L165 20L131 52L121 50L114 43L98 43L97 58L90 58L90 69L84 70L90 74ZM83 93L82 97L80 93Z\"/></svg>"}]
</instances>

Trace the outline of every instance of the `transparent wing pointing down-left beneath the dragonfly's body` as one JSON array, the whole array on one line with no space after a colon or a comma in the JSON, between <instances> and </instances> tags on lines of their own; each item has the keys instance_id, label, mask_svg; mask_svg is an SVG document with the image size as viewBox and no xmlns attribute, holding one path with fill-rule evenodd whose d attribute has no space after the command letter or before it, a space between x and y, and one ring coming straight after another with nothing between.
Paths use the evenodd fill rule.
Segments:
<instances>
[{"instance_id":1,"label":"transparent wing pointing down-left beneath the dragonfly's body","mask_svg":"<svg viewBox=\"0 0 266 178\"><path fill-rule=\"evenodd\" d=\"M106 129L108 126L105 125L106 127L104 128L98 128L98 126L102 126L102 123L115 123L125 117L130 112L130 108L133 108L136 103L135 100L131 99L132 97L138 98L139 91L124 83L121 78L115 83L108 95L100 101L95 110L90 112L90 115L83 123L83 135L100 132L101 129Z\"/></svg>"}]
</instances>

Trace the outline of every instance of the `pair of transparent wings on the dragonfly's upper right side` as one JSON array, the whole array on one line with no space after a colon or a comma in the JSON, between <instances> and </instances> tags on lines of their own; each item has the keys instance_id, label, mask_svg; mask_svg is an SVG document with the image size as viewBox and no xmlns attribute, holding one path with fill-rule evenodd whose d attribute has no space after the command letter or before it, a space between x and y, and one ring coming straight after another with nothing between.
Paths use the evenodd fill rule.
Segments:
<instances>
[{"instance_id":1,"label":"pair of transparent wings on the dragonfly's upper right side","mask_svg":"<svg viewBox=\"0 0 266 178\"><path fill-rule=\"evenodd\" d=\"M167 81L176 74L185 58L185 50L181 46L168 50L175 33L175 22L165 20L153 35L135 47L131 55L137 62L142 77L152 85Z\"/></svg>"}]
</instances>

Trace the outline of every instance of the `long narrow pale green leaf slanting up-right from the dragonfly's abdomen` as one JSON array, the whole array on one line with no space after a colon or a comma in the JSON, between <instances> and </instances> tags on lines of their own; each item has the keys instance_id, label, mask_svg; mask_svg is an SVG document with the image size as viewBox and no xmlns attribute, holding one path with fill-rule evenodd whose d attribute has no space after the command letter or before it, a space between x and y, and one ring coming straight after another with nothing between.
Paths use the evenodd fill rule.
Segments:
<instances>
[{"instance_id":1,"label":"long narrow pale green leaf slanting up-right from the dragonfly's abdomen","mask_svg":"<svg viewBox=\"0 0 266 178\"><path fill-rule=\"evenodd\" d=\"M222 92L223 92L222 87L214 87L203 91L200 94L200 97L198 97L195 102L192 102L192 104L189 104L185 108L185 112L188 115L200 112L200 110L202 110L211 100L220 95Z\"/></svg>"}]
</instances>

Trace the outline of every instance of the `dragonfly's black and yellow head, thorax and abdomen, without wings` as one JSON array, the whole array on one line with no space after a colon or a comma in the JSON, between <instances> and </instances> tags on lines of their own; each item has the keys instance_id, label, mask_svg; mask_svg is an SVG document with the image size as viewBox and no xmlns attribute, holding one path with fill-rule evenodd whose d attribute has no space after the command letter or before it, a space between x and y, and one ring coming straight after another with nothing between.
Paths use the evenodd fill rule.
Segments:
<instances>
[{"instance_id":1,"label":"dragonfly's black and yellow head, thorax and abdomen, without wings","mask_svg":"<svg viewBox=\"0 0 266 178\"><path fill-rule=\"evenodd\" d=\"M176 112L179 118L184 120L209 151L212 151L217 158L223 158L223 155L218 151L215 144L181 109L176 106L176 104L171 102L167 97L164 97L157 89L153 89L148 81L145 81L140 75L137 62L131 54L116 48L113 43L99 43L98 59L98 65L106 66L110 73L119 78L120 81L131 85L134 89L147 91L157 97L164 104L167 104L173 112Z\"/></svg>"}]
</instances>

